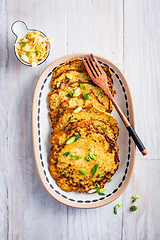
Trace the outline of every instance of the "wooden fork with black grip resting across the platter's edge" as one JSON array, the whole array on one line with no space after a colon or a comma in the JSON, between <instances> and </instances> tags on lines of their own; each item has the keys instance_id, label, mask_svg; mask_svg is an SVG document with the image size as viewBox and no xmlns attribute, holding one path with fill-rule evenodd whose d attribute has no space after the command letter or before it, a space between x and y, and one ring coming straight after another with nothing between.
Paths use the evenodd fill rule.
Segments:
<instances>
[{"instance_id":1,"label":"wooden fork with black grip resting across the platter's edge","mask_svg":"<svg viewBox=\"0 0 160 240\"><path fill-rule=\"evenodd\" d=\"M120 109L118 104L116 103L114 97L112 96L112 94L110 92L110 89L108 87L106 73L104 72L103 68L99 64L98 60L93 56L93 54L91 54L89 56L89 58L86 57L86 60L83 58L83 63L84 63L84 66L85 66L89 76L91 77L92 81L96 85L101 87L106 92L106 94L108 95L110 100L112 101L115 109L117 110L118 114L120 115L123 123L125 124L130 136L132 136L132 138L133 138L135 144L137 145L138 149L141 151L141 153L143 155L146 155L147 150L146 150L145 146L141 142L137 133L134 131L130 122L128 121L128 119L126 118L126 116L124 115L124 113L122 112L122 110Z\"/></svg>"}]
</instances>

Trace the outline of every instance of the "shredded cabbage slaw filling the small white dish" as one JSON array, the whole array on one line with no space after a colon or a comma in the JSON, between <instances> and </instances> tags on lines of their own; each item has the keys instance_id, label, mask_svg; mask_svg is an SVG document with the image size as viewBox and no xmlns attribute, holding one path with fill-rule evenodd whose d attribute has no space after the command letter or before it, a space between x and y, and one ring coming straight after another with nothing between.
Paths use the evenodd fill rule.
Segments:
<instances>
[{"instance_id":1,"label":"shredded cabbage slaw filling the small white dish","mask_svg":"<svg viewBox=\"0 0 160 240\"><path fill-rule=\"evenodd\" d=\"M15 52L19 54L23 62L37 67L38 63L47 57L49 43L53 40L45 37L38 31L29 32L25 37L15 43Z\"/></svg>"}]
</instances>

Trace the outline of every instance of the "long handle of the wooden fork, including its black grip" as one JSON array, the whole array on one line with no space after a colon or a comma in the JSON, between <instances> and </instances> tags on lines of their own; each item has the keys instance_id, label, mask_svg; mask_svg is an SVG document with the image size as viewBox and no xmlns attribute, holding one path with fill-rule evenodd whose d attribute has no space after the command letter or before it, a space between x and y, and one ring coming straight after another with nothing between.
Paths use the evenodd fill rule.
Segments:
<instances>
[{"instance_id":1,"label":"long handle of the wooden fork, including its black grip","mask_svg":"<svg viewBox=\"0 0 160 240\"><path fill-rule=\"evenodd\" d=\"M106 91L107 93L107 91ZM108 95L109 96L109 95ZM113 98L113 96L109 96L109 98L111 99L113 105L115 106L117 112L119 113L122 121L124 122L130 136L132 137L132 139L134 140L135 144L137 145L138 149L141 151L141 153L143 155L147 154L147 150L145 148L145 146L143 145L142 141L140 140L140 138L138 137L137 133L134 131L133 127L131 126L130 122L128 121L128 119L126 118L126 116L124 115L124 113L122 112L122 110L120 109L120 107L118 106L118 104L116 103L115 99Z\"/></svg>"}]
</instances>

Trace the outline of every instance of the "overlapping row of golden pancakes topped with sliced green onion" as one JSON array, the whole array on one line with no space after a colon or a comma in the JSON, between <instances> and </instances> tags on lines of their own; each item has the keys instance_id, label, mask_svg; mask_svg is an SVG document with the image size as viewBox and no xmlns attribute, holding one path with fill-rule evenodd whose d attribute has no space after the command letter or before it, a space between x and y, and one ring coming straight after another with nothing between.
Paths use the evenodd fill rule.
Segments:
<instances>
[{"instance_id":1,"label":"overlapping row of golden pancakes topped with sliced green onion","mask_svg":"<svg viewBox=\"0 0 160 240\"><path fill-rule=\"evenodd\" d=\"M114 96L112 72L103 69ZM103 189L119 167L119 129L111 101L92 82L81 58L56 67L51 88L51 176L67 192Z\"/></svg>"}]
</instances>

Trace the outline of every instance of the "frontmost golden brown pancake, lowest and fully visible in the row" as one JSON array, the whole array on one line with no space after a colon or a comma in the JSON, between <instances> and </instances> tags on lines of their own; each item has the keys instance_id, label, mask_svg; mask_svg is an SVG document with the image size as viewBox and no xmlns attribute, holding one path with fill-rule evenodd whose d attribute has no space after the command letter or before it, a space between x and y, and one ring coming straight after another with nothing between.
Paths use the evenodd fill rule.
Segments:
<instances>
[{"instance_id":1,"label":"frontmost golden brown pancake, lowest and fully visible in the row","mask_svg":"<svg viewBox=\"0 0 160 240\"><path fill-rule=\"evenodd\" d=\"M68 139L76 135L80 136L77 141L66 144ZM107 134L95 127L92 121L75 123L70 131L63 130L54 134L51 142L54 145L50 154L49 170L62 190L84 193L95 189L95 183L103 188L118 169L118 146ZM66 152L70 154L64 155ZM88 161L87 156L90 153L96 153L97 156ZM75 160L75 156L81 158ZM93 176L96 164L98 168ZM98 174L101 174L100 178Z\"/></svg>"}]
</instances>

